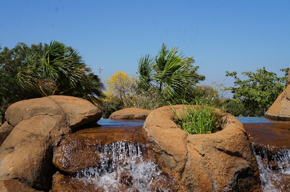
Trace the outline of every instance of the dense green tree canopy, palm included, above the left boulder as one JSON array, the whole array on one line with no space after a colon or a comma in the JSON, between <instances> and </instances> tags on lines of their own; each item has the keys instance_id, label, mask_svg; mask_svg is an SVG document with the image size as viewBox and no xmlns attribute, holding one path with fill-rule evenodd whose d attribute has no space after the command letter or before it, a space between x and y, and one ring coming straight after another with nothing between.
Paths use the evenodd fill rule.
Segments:
<instances>
[{"instance_id":1,"label":"dense green tree canopy, palm included, above the left boulder","mask_svg":"<svg viewBox=\"0 0 290 192\"><path fill-rule=\"evenodd\" d=\"M2 106L48 95L103 96L104 85L77 50L57 41L44 46L19 43L13 49L4 47L0 72Z\"/></svg>"}]
</instances>

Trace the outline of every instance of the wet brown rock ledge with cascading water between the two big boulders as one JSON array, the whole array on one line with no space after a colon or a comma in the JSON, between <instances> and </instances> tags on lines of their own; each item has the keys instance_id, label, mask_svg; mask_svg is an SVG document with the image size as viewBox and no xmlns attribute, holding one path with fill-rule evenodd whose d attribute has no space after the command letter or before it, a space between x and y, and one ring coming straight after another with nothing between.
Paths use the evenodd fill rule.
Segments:
<instances>
[{"instance_id":1,"label":"wet brown rock ledge with cascading water between the two big boulders","mask_svg":"<svg viewBox=\"0 0 290 192\"><path fill-rule=\"evenodd\" d=\"M101 126L62 139L53 163L53 191L177 191L172 176L155 164L142 125ZM81 156L79 155L81 154Z\"/></svg>"}]
</instances>

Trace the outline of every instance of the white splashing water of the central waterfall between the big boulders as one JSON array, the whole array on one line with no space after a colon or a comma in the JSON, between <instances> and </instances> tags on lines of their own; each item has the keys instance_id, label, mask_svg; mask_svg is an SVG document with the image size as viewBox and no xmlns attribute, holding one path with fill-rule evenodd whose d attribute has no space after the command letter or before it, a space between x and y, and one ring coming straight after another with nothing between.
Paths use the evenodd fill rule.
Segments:
<instances>
[{"instance_id":1,"label":"white splashing water of the central waterfall between the big boulders","mask_svg":"<svg viewBox=\"0 0 290 192\"><path fill-rule=\"evenodd\" d=\"M125 141L99 145L100 166L86 168L76 177L96 185L96 191L169 191L162 185L167 180L162 171L152 160L143 158L144 149L144 144Z\"/></svg>"}]
</instances>

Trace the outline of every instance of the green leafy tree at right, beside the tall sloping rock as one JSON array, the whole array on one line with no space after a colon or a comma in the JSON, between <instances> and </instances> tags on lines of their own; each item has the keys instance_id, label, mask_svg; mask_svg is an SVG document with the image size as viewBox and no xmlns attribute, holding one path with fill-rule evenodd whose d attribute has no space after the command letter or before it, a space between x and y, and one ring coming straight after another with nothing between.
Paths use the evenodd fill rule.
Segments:
<instances>
[{"instance_id":1,"label":"green leafy tree at right, beside the tall sloping rock","mask_svg":"<svg viewBox=\"0 0 290 192\"><path fill-rule=\"evenodd\" d=\"M242 72L247 77L241 80L237 77L237 72L229 73L226 76L233 77L235 86L226 88L233 93L232 99L240 101L251 111L257 109L268 110L277 97L287 86L288 68L280 69L285 72L284 77L277 77L276 73L263 69L257 69L255 72Z\"/></svg>"}]
</instances>

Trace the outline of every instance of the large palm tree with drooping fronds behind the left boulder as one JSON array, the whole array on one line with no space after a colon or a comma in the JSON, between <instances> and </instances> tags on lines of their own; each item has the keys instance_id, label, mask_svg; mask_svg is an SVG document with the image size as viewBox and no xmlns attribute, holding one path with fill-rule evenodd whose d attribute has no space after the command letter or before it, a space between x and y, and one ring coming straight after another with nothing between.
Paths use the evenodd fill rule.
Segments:
<instances>
[{"instance_id":1,"label":"large palm tree with drooping fronds behind the left boulder","mask_svg":"<svg viewBox=\"0 0 290 192\"><path fill-rule=\"evenodd\" d=\"M32 53L27 56L27 66L19 70L17 79L27 90L43 96L103 97L104 85L86 66L82 56L57 41L51 41L42 55Z\"/></svg>"}]
</instances>

